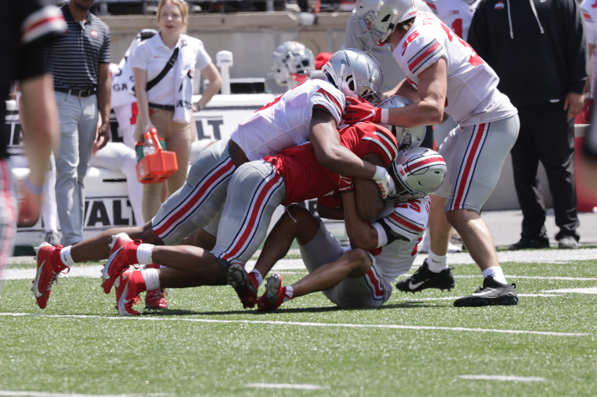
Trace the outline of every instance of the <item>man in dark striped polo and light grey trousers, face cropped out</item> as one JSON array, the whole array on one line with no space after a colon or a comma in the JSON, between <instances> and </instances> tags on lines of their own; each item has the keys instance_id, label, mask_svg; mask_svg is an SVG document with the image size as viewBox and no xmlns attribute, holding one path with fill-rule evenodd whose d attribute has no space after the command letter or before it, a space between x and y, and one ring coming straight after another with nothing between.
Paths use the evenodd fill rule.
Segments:
<instances>
[{"instance_id":1,"label":"man in dark striped polo and light grey trousers, face cropped out","mask_svg":"<svg viewBox=\"0 0 597 397\"><path fill-rule=\"evenodd\" d=\"M83 241L84 185L96 140L100 148L110 125L110 30L89 12L95 0L70 0L61 11L66 34L48 46L48 67L60 114L60 147L56 154L56 202L62 243Z\"/></svg>"}]
</instances>

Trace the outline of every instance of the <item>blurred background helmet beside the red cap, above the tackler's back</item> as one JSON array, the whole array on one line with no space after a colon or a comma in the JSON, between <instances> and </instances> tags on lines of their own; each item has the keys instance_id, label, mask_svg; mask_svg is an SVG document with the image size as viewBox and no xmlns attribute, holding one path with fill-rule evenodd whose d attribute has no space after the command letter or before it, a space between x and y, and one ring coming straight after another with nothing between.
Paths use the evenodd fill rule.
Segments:
<instances>
[{"instance_id":1,"label":"blurred background helmet beside the red cap, above the tackler's back","mask_svg":"<svg viewBox=\"0 0 597 397\"><path fill-rule=\"evenodd\" d=\"M315 56L303 44L287 41L273 51L272 71L278 85L294 87L304 82L314 69Z\"/></svg>"}]
</instances>

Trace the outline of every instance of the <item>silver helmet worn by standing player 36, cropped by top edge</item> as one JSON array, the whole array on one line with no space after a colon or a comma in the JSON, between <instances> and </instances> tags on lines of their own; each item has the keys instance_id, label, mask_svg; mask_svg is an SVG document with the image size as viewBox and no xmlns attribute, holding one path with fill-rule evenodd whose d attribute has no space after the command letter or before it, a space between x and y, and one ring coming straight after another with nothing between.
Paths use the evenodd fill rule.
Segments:
<instances>
[{"instance_id":1,"label":"silver helmet worn by standing player 36, cropped by top edge","mask_svg":"<svg viewBox=\"0 0 597 397\"><path fill-rule=\"evenodd\" d=\"M377 45L384 45L396 24L417 15L414 0L380 0L356 4L356 18L369 22L369 32Z\"/></svg>"}]
</instances>

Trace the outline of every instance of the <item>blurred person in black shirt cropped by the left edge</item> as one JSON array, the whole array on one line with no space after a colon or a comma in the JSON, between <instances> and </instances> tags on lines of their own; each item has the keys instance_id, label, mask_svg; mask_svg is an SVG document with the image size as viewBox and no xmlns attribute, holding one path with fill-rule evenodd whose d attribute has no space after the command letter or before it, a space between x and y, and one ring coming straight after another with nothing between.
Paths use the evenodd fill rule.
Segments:
<instances>
[{"instance_id":1,"label":"blurred person in black shirt cropped by the left edge","mask_svg":"<svg viewBox=\"0 0 597 397\"><path fill-rule=\"evenodd\" d=\"M23 99L21 123L27 125L24 134L25 153L29 158L29 178L23 194L39 213L41 190L50 162L59 124L54 100L52 76L44 62L44 45L66 30L62 13L53 1L0 0L0 117L4 123L6 103L11 86L19 80ZM13 236L17 224L17 208L12 190L7 144L10 132L0 129L0 280L7 259L12 255ZM0 283L1 285L1 283Z\"/></svg>"}]
</instances>

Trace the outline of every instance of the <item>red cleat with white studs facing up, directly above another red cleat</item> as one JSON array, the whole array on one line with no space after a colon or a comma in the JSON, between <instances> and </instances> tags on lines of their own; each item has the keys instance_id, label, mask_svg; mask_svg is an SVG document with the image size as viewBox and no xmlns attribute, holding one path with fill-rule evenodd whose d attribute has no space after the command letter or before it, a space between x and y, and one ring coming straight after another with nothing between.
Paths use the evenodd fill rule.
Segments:
<instances>
[{"instance_id":1,"label":"red cleat with white studs facing up, directly above another red cleat","mask_svg":"<svg viewBox=\"0 0 597 397\"><path fill-rule=\"evenodd\" d=\"M125 233L112 236L110 256L101 270L101 278L104 280L101 287L103 287L105 293L110 293L116 278L127 271L129 265L137 264L137 247L141 243L141 240L133 241Z\"/></svg>"}]
</instances>

